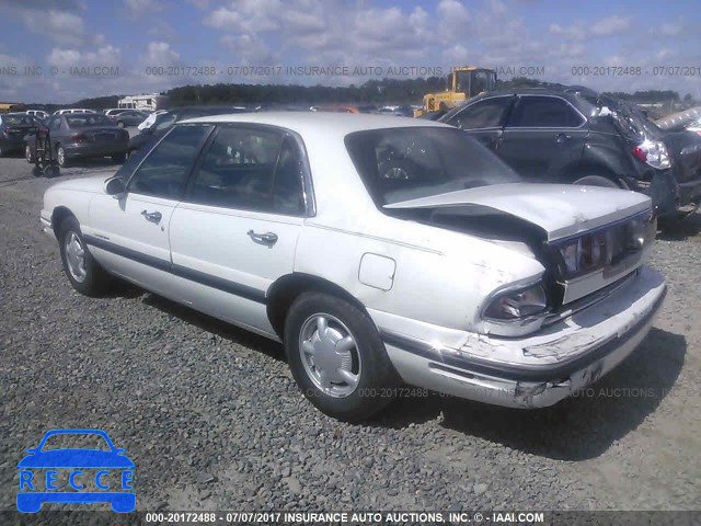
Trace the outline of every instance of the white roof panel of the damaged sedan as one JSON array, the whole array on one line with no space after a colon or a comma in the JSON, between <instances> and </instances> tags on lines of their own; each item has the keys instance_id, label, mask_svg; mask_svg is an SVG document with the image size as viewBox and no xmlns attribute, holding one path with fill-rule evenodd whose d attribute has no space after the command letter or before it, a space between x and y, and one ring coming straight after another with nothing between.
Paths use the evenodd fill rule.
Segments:
<instances>
[{"instance_id":1,"label":"white roof panel of the damaged sedan","mask_svg":"<svg viewBox=\"0 0 701 526\"><path fill-rule=\"evenodd\" d=\"M447 126L432 121L402 118L394 115L365 113L325 113L325 112L263 112L211 115L188 118L182 123L253 123L279 126L301 135L323 133L324 135L346 136L365 129Z\"/></svg>"}]
</instances>

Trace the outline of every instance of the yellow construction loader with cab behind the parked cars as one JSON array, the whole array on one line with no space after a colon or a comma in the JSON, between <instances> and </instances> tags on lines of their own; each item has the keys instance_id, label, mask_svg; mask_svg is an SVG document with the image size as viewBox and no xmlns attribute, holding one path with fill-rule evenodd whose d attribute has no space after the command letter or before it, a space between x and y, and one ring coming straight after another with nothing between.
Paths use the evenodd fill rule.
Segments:
<instances>
[{"instance_id":1,"label":"yellow construction loader with cab behind the parked cars","mask_svg":"<svg viewBox=\"0 0 701 526\"><path fill-rule=\"evenodd\" d=\"M496 71L476 66L455 67L448 75L446 91L424 95L424 107L414 111L414 117L430 112L446 111L468 99L496 89Z\"/></svg>"}]
</instances>

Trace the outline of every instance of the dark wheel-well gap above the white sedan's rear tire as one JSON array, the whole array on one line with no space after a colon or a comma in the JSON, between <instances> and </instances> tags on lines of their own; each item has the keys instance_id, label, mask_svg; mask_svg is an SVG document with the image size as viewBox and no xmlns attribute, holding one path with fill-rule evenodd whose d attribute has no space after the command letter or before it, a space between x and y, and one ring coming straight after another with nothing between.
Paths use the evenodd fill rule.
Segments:
<instances>
[{"instance_id":1,"label":"dark wheel-well gap above the white sedan's rear tire","mask_svg":"<svg viewBox=\"0 0 701 526\"><path fill-rule=\"evenodd\" d=\"M306 274L301 272L294 272L285 276L279 277L267 290L267 317L275 330L275 333L285 339L285 319L289 308L295 300L303 293L317 291L326 293L331 296L335 296L345 299L363 312L367 313L365 306L353 296L345 288L336 285L323 277Z\"/></svg>"}]
</instances>

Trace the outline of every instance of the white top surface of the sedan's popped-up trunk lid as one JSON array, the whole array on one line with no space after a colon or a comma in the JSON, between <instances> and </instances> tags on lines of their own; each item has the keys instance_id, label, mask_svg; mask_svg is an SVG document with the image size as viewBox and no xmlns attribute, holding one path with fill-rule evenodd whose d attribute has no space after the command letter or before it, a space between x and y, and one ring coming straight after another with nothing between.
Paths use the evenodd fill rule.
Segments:
<instances>
[{"instance_id":1,"label":"white top surface of the sedan's popped-up trunk lid","mask_svg":"<svg viewBox=\"0 0 701 526\"><path fill-rule=\"evenodd\" d=\"M475 208L474 215L509 214L539 226L548 241L574 236L651 208L635 192L567 184L512 183L460 190L384 205L388 209Z\"/></svg>"}]
</instances>

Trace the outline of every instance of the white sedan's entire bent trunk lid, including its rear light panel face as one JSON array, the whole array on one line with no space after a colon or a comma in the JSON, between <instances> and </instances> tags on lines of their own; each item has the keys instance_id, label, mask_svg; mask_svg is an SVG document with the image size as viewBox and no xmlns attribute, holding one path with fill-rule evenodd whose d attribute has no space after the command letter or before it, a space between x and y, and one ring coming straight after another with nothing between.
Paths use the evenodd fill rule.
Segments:
<instances>
[{"instance_id":1,"label":"white sedan's entire bent trunk lid, including its rear light panel face","mask_svg":"<svg viewBox=\"0 0 701 526\"><path fill-rule=\"evenodd\" d=\"M545 268L555 309L613 286L637 268L656 232L647 197L590 186L504 184L384 207L530 253Z\"/></svg>"}]
</instances>

